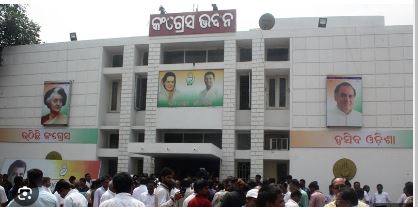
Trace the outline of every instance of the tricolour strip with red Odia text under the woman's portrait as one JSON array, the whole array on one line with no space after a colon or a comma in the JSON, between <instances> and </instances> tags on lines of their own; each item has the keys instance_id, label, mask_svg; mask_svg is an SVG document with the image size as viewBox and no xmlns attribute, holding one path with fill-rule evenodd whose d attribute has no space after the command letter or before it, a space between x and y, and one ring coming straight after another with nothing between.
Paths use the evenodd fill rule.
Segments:
<instances>
[{"instance_id":1,"label":"tricolour strip with red Odia text under the woman's portrait","mask_svg":"<svg viewBox=\"0 0 418 207\"><path fill-rule=\"evenodd\" d=\"M0 128L0 142L97 144L97 129Z\"/></svg>"}]
</instances>

